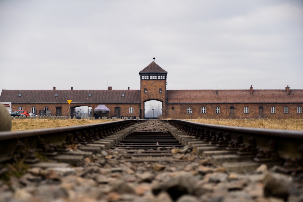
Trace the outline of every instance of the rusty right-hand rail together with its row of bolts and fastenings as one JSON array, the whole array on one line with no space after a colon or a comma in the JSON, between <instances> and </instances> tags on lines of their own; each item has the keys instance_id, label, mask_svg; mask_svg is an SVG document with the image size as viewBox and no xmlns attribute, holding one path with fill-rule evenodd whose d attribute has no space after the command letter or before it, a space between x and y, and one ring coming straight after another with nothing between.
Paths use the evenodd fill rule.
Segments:
<instances>
[{"instance_id":1,"label":"rusty right-hand rail together with its row of bolts and fastenings","mask_svg":"<svg viewBox=\"0 0 303 202\"><path fill-rule=\"evenodd\" d=\"M191 136L237 151L240 155L255 155L255 161L278 161L303 167L303 131L258 129L200 124L183 120L168 120L172 126Z\"/></svg>"}]
</instances>

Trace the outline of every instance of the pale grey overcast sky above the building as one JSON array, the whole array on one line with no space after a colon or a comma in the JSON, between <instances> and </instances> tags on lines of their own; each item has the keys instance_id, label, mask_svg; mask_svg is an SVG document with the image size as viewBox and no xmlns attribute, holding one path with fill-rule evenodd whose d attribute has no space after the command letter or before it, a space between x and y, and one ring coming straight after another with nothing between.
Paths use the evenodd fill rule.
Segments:
<instances>
[{"instance_id":1,"label":"pale grey overcast sky above the building","mask_svg":"<svg viewBox=\"0 0 303 202\"><path fill-rule=\"evenodd\" d=\"M303 1L0 0L2 89L303 89Z\"/></svg>"}]
</instances>

